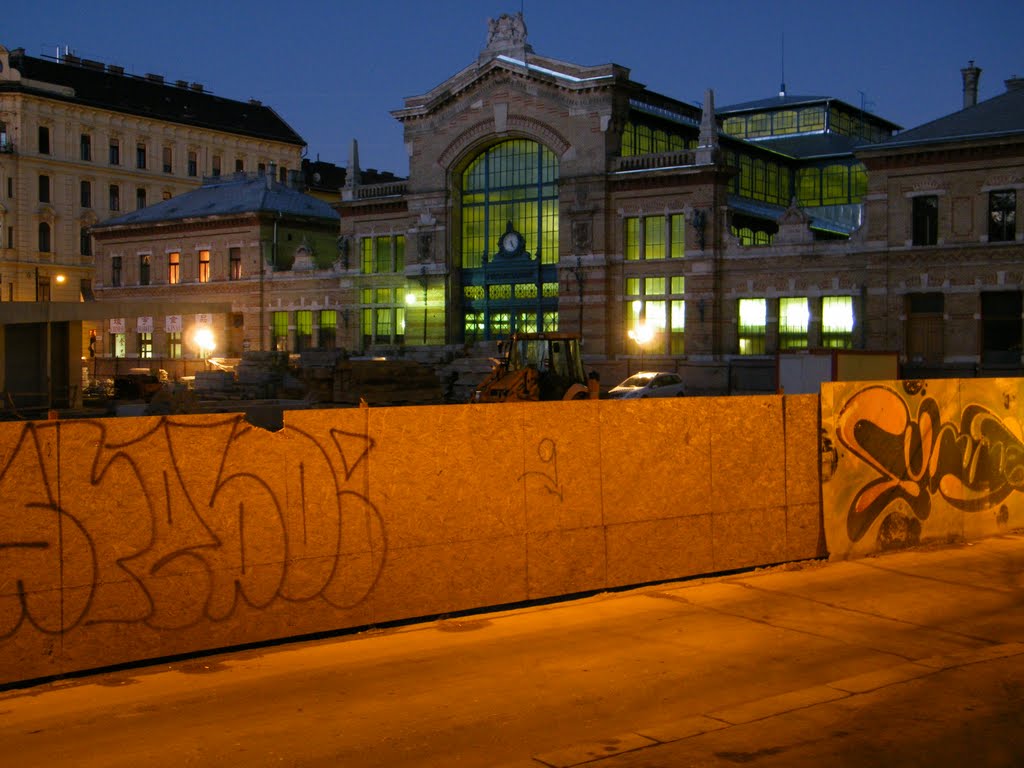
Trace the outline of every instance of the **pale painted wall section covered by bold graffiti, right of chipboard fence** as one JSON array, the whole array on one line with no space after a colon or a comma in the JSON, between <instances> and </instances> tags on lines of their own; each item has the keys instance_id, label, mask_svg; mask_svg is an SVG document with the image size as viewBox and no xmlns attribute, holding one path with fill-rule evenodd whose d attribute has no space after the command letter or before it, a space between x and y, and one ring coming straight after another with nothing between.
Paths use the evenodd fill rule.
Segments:
<instances>
[{"instance_id":1,"label":"pale painted wall section covered by bold graffiti, right of chipboard fence","mask_svg":"<svg viewBox=\"0 0 1024 768\"><path fill-rule=\"evenodd\" d=\"M831 558L1024 526L1024 380L821 387Z\"/></svg>"}]
</instances>

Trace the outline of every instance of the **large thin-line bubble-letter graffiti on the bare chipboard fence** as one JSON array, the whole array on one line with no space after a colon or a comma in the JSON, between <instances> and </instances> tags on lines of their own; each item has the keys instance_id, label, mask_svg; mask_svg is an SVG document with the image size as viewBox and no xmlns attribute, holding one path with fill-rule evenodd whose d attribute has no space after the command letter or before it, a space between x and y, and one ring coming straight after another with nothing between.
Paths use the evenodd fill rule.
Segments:
<instances>
[{"instance_id":1,"label":"large thin-line bubble-letter graffiti on the bare chipboard fence","mask_svg":"<svg viewBox=\"0 0 1024 768\"><path fill-rule=\"evenodd\" d=\"M120 440L102 421L27 424L0 454L0 640L25 626L178 629L242 605L350 608L373 592L387 542L355 487L369 435L287 428L278 452L241 416L135 423Z\"/></svg>"}]
</instances>

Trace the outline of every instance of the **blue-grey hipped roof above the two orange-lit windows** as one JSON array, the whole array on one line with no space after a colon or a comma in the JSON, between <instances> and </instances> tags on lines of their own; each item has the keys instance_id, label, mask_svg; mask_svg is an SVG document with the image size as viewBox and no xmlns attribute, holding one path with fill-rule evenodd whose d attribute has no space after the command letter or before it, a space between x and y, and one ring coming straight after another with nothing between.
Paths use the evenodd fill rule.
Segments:
<instances>
[{"instance_id":1,"label":"blue-grey hipped roof above the two orange-lit windows","mask_svg":"<svg viewBox=\"0 0 1024 768\"><path fill-rule=\"evenodd\" d=\"M201 187L138 211L101 221L94 229L158 224L181 219L246 213L281 213L292 218L337 221L340 217L322 200L273 181L264 174L237 173L206 179Z\"/></svg>"}]
</instances>

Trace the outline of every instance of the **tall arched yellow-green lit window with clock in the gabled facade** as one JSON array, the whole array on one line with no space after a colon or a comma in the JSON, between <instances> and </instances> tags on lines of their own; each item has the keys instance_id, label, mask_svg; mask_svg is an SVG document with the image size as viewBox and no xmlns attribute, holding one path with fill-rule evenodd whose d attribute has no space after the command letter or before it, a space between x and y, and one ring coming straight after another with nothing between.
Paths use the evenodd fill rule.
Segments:
<instances>
[{"instance_id":1,"label":"tall arched yellow-green lit window with clock in the gabled facade","mask_svg":"<svg viewBox=\"0 0 1024 768\"><path fill-rule=\"evenodd\" d=\"M467 341L558 327L558 160L528 139L488 147L462 175ZM503 251L509 230L521 248Z\"/></svg>"}]
</instances>

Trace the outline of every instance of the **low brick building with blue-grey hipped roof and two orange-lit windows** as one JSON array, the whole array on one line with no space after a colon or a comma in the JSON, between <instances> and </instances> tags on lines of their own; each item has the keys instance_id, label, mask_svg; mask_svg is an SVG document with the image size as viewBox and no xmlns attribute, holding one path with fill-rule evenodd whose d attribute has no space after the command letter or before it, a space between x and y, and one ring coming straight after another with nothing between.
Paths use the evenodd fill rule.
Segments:
<instances>
[{"instance_id":1,"label":"low brick building with blue-grey hipped roof and two orange-lit windows","mask_svg":"<svg viewBox=\"0 0 1024 768\"><path fill-rule=\"evenodd\" d=\"M126 367L179 378L211 355L333 348L349 322L338 214L272 168L208 178L92 231L96 303L110 307L93 327L100 378Z\"/></svg>"}]
</instances>

